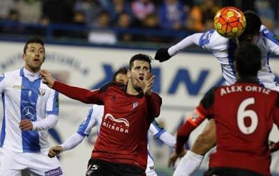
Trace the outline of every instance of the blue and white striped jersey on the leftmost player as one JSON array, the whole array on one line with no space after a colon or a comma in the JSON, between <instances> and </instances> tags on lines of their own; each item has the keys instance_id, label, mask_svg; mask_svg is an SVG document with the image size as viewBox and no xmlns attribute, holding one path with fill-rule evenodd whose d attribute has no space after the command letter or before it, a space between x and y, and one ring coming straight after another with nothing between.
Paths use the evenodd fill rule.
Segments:
<instances>
[{"instance_id":1,"label":"blue and white striped jersey on the leftmost player","mask_svg":"<svg viewBox=\"0 0 279 176\"><path fill-rule=\"evenodd\" d=\"M47 115L56 117L59 113L58 93L43 84L39 73L29 73L22 67L0 76L3 103L0 147L14 152L47 151L47 130L22 131L19 123L24 119L39 122Z\"/></svg>"}]
</instances>

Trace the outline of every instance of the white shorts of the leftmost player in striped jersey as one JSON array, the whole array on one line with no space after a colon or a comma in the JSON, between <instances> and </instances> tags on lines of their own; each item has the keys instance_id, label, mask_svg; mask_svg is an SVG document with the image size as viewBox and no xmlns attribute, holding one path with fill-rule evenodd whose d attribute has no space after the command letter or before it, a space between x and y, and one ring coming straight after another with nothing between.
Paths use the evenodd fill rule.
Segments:
<instances>
[{"instance_id":1,"label":"white shorts of the leftmost player in striped jersey","mask_svg":"<svg viewBox=\"0 0 279 176\"><path fill-rule=\"evenodd\" d=\"M20 170L26 168L29 168L31 175L63 175L58 159L47 157L47 153L17 153L3 148L1 152L1 176L20 176Z\"/></svg>"}]
</instances>

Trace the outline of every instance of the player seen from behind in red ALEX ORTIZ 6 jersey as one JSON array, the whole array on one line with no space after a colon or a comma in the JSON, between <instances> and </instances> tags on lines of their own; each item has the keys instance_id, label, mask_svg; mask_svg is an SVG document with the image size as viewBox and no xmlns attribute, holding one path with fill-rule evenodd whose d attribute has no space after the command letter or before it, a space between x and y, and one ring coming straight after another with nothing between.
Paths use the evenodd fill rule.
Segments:
<instances>
[{"instance_id":1,"label":"player seen from behind in red ALEX ORTIZ 6 jersey","mask_svg":"<svg viewBox=\"0 0 279 176\"><path fill-rule=\"evenodd\" d=\"M209 90L189 117L197 124L205 118L216 121L217 152L211 154L209 170L204 175L271 175L268 138L273 123L279 126L279 94L257 81L261 68L257 45L243 42L236 49L234 65L238 81ZM186 126L187 123L177 134L177 153L183 150L190 134ZM174 175L185 173L179 163Z\"/></svg>"}]
</instances>

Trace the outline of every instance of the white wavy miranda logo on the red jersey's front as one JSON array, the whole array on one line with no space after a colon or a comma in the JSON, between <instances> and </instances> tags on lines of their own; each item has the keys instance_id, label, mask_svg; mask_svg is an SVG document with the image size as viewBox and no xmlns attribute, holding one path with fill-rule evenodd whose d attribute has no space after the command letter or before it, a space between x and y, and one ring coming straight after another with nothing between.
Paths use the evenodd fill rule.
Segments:
<instances>
[{"instance_id":1,"label":"white wavy miranda logo on the red jersey's front","mask_svg":"<svg viewBox=\"0 0 279 176\"><path fill-rule=\"evenodd\" d=\"M114 118L112 114L107 113L103 120L102 126L114 131L119 131L121 133L128 133L130 123L125 118Z\"/></svg>"}]
</instances>

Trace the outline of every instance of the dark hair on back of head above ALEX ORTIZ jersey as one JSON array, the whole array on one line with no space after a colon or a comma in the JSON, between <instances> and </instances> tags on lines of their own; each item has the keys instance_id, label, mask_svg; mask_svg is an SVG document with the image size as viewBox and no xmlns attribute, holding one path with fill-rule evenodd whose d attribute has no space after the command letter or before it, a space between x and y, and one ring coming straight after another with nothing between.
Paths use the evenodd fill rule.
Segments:
<instances>
[{"instance_id":1,"label":"dark hair on back of head above ALEX ORTIZ jersey","mask_svg":"<svg viewBox=\"0 0 279 176\"><path fill-rule=\"evenodd\" d=\"M257 77L262 67L262 52L251 42L241 42L234 53L239 77Z\"/></svg>"}]
</instances>

